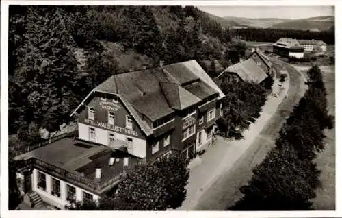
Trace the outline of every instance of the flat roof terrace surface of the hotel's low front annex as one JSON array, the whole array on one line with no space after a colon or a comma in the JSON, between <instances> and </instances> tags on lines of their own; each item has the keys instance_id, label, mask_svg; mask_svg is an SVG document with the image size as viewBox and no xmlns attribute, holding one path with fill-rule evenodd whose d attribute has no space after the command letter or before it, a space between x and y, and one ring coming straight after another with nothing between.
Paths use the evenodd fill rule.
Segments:
<instances>
[{"instance_id":1,"label":"flat roof terrace surface of the hotel's low front annex","mask_svg":"<svg viewBox=\"0 0 342 218\"><path fill-rule=\"evenodd\" d=\"M109 166L109 158L118 158L113 166ZM135 164L140 158L127 152L120 152L105 145L94 145L84 141L73 141L72 138L62 138L31 152L16 156L15 160L36 158L49 165L60 167L81 177L95 178L96 168L101 168L101 179L120 175L123 168L123 158L129 158L129 164ZM69 181L72 182L72 181Z\"/></svg>"}]
</instances>

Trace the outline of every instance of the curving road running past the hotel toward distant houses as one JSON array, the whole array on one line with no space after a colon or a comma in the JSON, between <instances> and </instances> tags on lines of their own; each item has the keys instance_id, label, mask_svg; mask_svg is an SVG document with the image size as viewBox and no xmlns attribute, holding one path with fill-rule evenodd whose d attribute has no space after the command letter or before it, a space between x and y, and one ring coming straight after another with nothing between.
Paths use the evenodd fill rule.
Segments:
<instances>
[{"instance_id":1,"label":"curving road running past the hotel toward distant houses","mask_svg":"<svg viewBox=\"0 0 342 218\"><path fill-rule=\"evenodd\" d=\"M278 64L285 64L276 59L272 61ZM274 147L274 140L278 131L306 90L304 76L299 71L289 64L285 64L285 70L289 73L290 78L288 97L282 100L276 112L272 114L272 117L261 130L259 136L257 136L252 145L233 164L233 167L221 175L201 195L194 208L188 209L227 210L228 206L231 206L242 197L242 194L239 192L239 187L246 184L252 178L253 167L265 158L269 149Z\"/></svg>"}]
</instances>

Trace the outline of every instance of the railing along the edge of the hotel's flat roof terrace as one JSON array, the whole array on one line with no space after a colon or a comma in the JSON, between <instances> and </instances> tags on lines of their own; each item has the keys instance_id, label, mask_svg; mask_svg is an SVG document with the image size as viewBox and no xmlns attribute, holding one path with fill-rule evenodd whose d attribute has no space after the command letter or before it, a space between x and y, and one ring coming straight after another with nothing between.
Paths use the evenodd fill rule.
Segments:
<instances>
[{"instance_id":1,"label":"railing along the edge of the hotel's flat roof terrace","mask_svg":"<svg viewBox=\"0 0 342 218\"><path fill-rule=\"evenodd\" d=\"M91 178L87 178L81 173L70 172L62 169L60 167L56 167L54 165L50 165L47 162L42 160L38 160L36 158L30 158L22 163L23 167L31 166L38 170L49 173L49 175L53 175L56 178L60 178L62 180L66 180L67 182L73 183L76 186L79 186L82 189L86 189L91 191L92 193L101 194L101 191L114 182L118 181L120 175L110 175L105 178L105 180L93 180Z\"/></svg>"}]
</instances>

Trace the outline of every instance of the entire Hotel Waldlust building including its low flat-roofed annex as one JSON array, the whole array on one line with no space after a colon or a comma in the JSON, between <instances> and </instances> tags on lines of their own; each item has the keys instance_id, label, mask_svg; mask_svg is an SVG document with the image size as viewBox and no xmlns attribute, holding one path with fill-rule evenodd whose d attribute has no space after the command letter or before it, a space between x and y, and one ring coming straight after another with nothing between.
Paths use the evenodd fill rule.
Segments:
<instances>
[{"instance_id":1,"label":"entire Hotel Waldlust building including its low flat-roofed annex","mask_svg":"<svg viewBox=\"0 0 342 218\"><path fill-rule=\"evenodd\" d=\"M78 138L16 157L21 191L64 209L113 191L129 165L192 158L212 143L222 97L195 60L113 75L73 112Z\"/></svg>"}]
</instances>

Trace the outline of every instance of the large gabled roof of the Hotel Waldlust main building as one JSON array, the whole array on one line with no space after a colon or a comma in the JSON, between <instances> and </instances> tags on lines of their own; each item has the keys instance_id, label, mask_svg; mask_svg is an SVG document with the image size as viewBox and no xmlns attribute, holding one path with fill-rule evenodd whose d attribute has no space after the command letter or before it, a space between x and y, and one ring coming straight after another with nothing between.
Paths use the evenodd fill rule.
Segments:
<instances>
[{"instance_id":1,"label":"large gabled roof of the Hotel Waldlust main building","mask_svg":"<svg viewBox=\"0 0 342 218\"><path fill-rule=\"evenodd\" d=\"M155 121L174 110L192 106L205 96L219 93L224 97L196 60L112 75L93 92L117 95L147 136L153 134L153 130L144 121L144 116ZM79 108L81 105L73 114Z\"/></svg>"}]
</instances>

